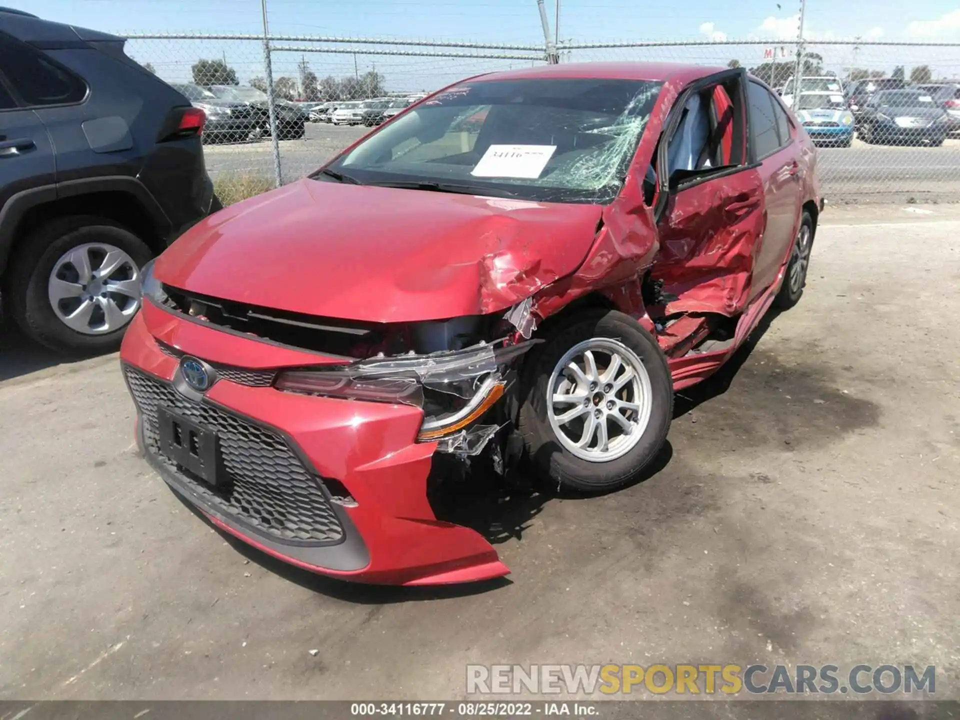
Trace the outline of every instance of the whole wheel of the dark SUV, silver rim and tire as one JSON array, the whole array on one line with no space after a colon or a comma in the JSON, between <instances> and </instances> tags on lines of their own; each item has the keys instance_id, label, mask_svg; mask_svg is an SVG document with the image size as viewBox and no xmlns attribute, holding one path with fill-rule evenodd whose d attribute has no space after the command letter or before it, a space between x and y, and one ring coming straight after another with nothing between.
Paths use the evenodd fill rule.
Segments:
<instances>
[{"instance_id":1,"label":"whole wheel of the dark SUV, silver rim and tire","mask_svg":"<svg viewBox=\"0 0 960 720\"><path fill-rule=\"evenodd\" d=\"M140 238L101 217L51 221L19 244L10 269L11 314L47 348L109 352L140 304L140 268L153 257Z\"/></svg>"}]
</instances>

